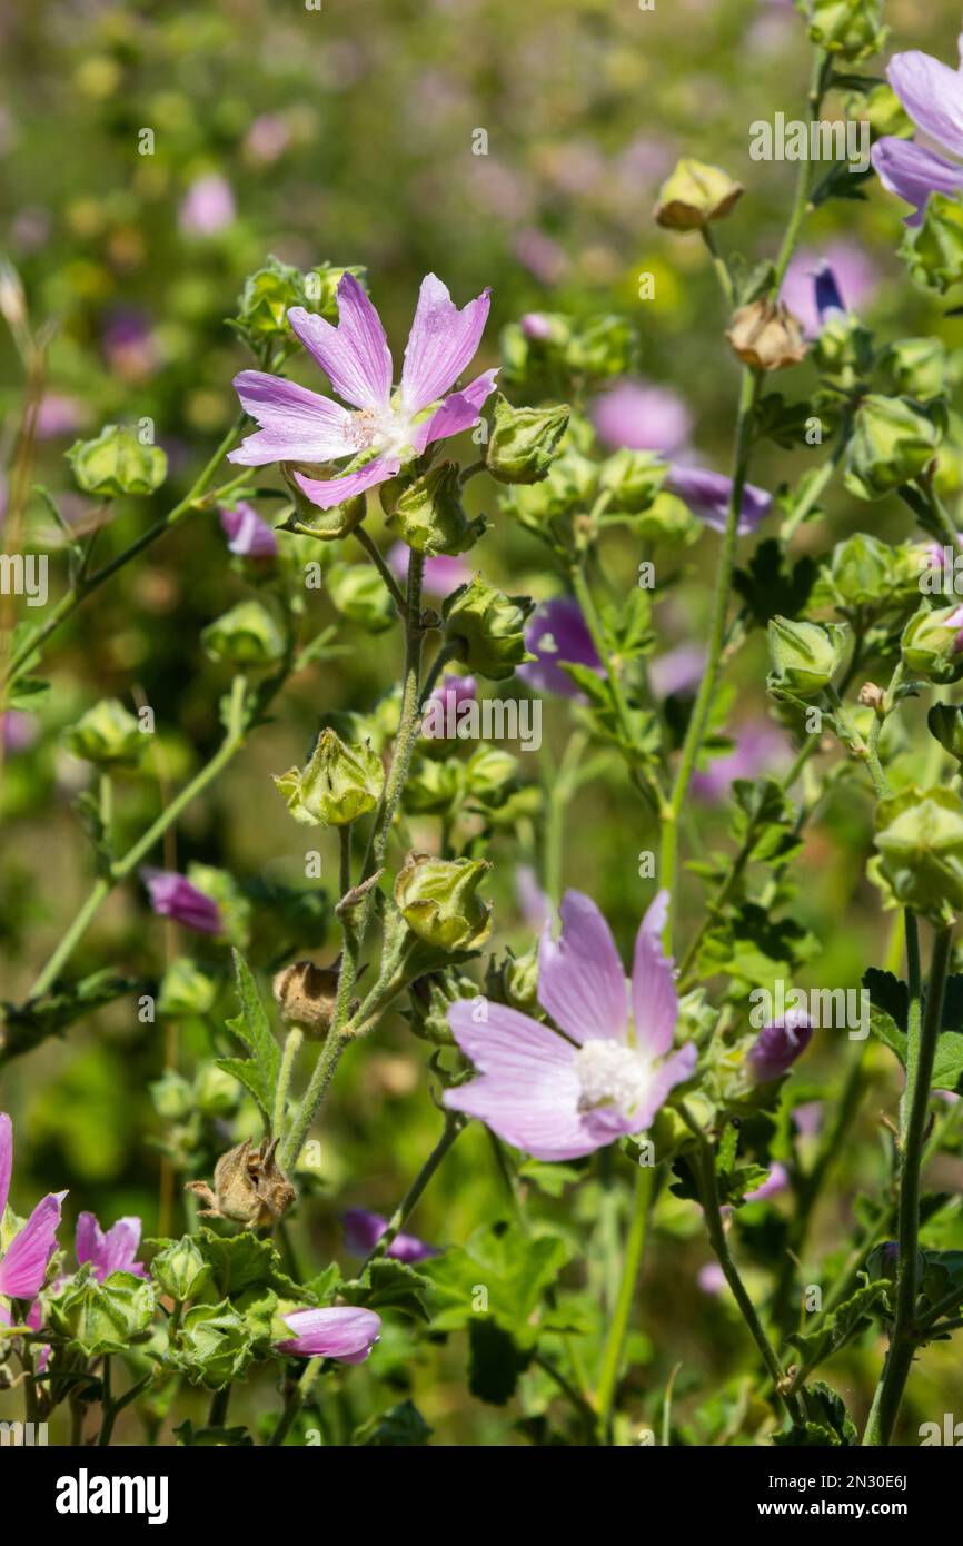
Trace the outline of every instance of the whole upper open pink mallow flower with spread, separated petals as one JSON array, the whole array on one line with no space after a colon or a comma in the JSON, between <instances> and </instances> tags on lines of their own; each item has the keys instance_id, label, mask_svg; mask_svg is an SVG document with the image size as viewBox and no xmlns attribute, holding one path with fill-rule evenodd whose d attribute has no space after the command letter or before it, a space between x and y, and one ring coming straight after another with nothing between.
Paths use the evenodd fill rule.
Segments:
<instances>
[{"instance_id":1,"label":"whole upper open pink mallow flower with spread, separated petals","mask_svg":"<svg viewBox=\"0 0 963 1546\"><path fill-rule=\"evenodd\" d=\"M434 274L422 280L396 393L382 320L354 275L345 274L337 300L337 328L303 306L292 306L288 320L352 408L263 371L241 371L233 379L244 411L260 430L230 453L232 462L263 467L368 458L363 467L337 478L295 473L300 489L322 510L394 478L403 462L434 441L468 430L498 376L484 371L462 391L445 396L481 343L490 306L487 289L459 311Z\"/></svg>"}]
</instances>

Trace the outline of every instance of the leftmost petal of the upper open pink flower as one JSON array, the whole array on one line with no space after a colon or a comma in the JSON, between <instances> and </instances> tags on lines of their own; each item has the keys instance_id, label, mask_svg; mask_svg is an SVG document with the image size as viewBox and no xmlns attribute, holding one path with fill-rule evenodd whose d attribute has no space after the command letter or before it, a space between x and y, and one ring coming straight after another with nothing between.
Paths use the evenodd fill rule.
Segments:
<instances>
[{"instance_id":1,"label":"leftmost petal of the upper open pink flower","mask_svg":"<svg viewBox=\"0 0 963 1546\"><path fill-rule=\"evenodd\" d=\"M352 455L354 414L340 402L264 371L241 371L233 386L244 413L261 428L229 451L229 462L264 467L267 462L329 462Z\"/></svg>"}]
</instances>

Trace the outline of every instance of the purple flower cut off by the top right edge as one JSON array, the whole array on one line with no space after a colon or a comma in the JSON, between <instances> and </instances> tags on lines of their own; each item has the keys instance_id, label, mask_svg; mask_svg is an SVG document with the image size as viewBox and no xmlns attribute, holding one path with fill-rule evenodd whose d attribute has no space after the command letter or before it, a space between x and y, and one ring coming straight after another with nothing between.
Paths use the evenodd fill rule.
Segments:
<instances>
[{"instance_id":1,"label":"purple flower cut off by the top right edge","mask_svg":"<svg viewBox=\"0 0 963 1546\"><path fill-rule=\"evenodd\" d=\"M960 70L914 48L893 54L886 76L924 139L949 156L963 158L963 34L958 49ZM914 206L904 218L907 226L921 223L931 193L952 198L963 192L960 159L948 161L927 144L884 135L870 155L883 187Z\"/></svg>"}]
</instances>

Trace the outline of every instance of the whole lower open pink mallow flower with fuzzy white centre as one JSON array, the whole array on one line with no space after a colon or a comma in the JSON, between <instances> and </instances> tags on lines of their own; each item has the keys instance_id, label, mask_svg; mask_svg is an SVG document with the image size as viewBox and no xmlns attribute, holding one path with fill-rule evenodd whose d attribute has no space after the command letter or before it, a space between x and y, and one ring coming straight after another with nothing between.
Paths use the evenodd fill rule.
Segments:
<instances>
[{"instance_id":1,"label":"whole lower open pink mallow flower with fuzzy white centre","mask_svg":"<svg viewBox=\"0 0 963 1546\"><path fill-rule=\"evenodd\" d=\"M696 1067L692 1042L672 1051L679 1002L660 938L666 908L660 892L628 983L595 903L566 892L561 937L546 926L538 951L538 1002L563 1034L501 1003L488 1003L482 1022L468 999L453 1003L448 1025L479 1078L447 1090L445 1105L536 1160L575 1160L649 1127Z\"/></svg>"}]
</instances>

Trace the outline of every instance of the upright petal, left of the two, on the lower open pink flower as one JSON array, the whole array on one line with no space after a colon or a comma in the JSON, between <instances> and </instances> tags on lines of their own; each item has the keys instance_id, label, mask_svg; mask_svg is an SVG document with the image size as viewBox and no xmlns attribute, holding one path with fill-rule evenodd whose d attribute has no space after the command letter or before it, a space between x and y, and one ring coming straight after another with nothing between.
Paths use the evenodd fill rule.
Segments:
<instances>
[{"instance_id":1,"label":"upright petal, left of the two, on the lower open pink flower","mask_svg":"<svg viewBox=\"0 0 963 1546\"><path fill-rule=\"evenodd\" d=\"M609 925L590 897L567 890L561 935L546 929L538 946L538 1002L575 1042L626 1039L628 985Z\"/></svg>"}]
</instances>

